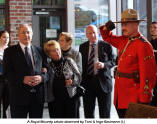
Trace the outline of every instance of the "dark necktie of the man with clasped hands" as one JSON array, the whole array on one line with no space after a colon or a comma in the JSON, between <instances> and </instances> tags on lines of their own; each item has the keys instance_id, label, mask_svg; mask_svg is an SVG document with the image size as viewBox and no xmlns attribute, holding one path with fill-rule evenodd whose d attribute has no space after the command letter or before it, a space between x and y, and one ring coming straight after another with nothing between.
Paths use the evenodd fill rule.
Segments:
<instances>
[{"instance_id":1,"label":"dark necktie of the man with clasped hands","mask_svg":"<svg viewBox=\"0 0 157 124\"><path fill-rule=\"evenodd\" d=\"M28 66L29 66L29 69L31 71L31 75L34 75L32 60L31 60L30 53L28 52L28 47L25 47L25 58L26 58Z\"/></svg>"}]
</instances>

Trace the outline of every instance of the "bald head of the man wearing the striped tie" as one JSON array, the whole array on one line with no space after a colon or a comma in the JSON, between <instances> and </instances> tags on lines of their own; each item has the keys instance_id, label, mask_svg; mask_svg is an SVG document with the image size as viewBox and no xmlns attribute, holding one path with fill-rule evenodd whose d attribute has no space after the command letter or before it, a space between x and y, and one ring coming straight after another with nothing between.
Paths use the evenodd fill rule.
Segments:
<instances>
[{"instance_id":1,"label":"bald head of the man wearing the striped tie","mask_svg":"<svg viewBox=\"0 0 157 124\"><path fill-rule=\"evenodd\" d=\"M90 43L96 43L98 41L98 29L95 25L89 25L86 28L86 37Z\"/></svg>"}]
</instances>

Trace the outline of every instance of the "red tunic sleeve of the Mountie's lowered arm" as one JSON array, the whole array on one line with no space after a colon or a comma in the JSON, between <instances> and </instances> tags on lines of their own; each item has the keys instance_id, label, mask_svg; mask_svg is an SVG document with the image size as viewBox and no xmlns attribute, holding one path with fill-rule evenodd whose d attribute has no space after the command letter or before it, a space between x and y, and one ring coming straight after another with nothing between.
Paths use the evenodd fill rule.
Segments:
<instances>
[{"instance_id":1,"label":"red tunic sleeve of the Mountie's lowered arm","mask_svg":"<svg viewBox=\"0 0 157 124\"><path fill-rule=\"evenodd\" d=\"M149 103L156 82L156 64L152 46L148 42L139 44L137 54L140 73L139 102Z\"/></svg>"}]
</instances>

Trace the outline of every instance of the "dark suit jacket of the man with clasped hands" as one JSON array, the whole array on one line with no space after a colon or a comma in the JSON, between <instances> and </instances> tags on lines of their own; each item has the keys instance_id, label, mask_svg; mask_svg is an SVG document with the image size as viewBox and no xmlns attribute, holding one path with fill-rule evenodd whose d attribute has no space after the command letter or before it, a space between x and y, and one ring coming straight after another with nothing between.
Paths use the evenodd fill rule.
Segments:
<instances>
[{"instance_id":1,"label":"dark suit jacket of the man with clasped hands","mask_svg":"<svg viewBox=\"0 0 157 124\"><path fill-rule=\"evenodd\" d=\"M44 53L36 46L31 46L34 59L35 75L41 75L43 82L47 81L47 74L42 73L44 66ZM25 55L20 45L14 45L4 51L3 74L9 81L10 103L12 105L28 105L31 102L31 87L24 84L24 76L31 76L31 71L27 65ZM43 82L35 86L36 100L39 103L44 102Z\"/></svg>"}]
</instances>

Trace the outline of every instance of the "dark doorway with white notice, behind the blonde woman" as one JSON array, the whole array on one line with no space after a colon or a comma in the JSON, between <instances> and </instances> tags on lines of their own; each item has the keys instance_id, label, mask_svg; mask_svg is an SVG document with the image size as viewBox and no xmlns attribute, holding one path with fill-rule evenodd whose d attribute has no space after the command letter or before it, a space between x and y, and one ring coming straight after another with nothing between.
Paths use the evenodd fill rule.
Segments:
<instances>
[{"instance_id":1,"label":"dark doorway with white notice, behind the blonde woman","mask_svg":"<svg viewBox=\"0 0 157 124\"><path fill-rule=\"evenodd\" d=\"M49 40L58 41L59 34L67 31L66 11L62 9L34 10L32 22L32 43L40 47Z\"/></svg>"}]
</instances>

